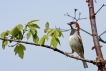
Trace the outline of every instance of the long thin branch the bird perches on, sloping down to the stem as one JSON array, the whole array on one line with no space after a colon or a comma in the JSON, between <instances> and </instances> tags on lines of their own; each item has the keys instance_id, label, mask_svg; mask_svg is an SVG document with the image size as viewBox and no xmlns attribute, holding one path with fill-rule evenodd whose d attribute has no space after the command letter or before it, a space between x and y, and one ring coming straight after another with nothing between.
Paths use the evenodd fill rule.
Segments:
<instances>
[{"instance_id":1,"label":"long thin branch the bird perches on, sloping down to the stem","mask_svg":"<svg viewBox=\"0 0 106 71\"><path fill-rule=\"evenodd\" d=\"M30 44L30 45L35 45L35 46L40 46L40 44L36 44L36 43L33 43L33 42L27 42L27 41L21 41L21 40L13 40L13 39L5 39L5 38L0 38L1 40L6 40L6 41L13 41L13 42L20 42L20 43L25 43L25 44ZM49 49L52 49L56 52L59 52L65 56L68 56L70 58L74 58L74 59L78 59L78 60L82 60L82 61L86 61L86 62L89 62L89 63L93 63L95 64L96 62L93 61L93 60L88 60L88 59L83 59L83 58L78 58L78 57L75 57L75 56L72 56L72 55L66 55L65 52L59 50L59 49L54 49L53 47L51 46L48 46L48 45L41 45L41 47L45 47L45 48L49 48Z\"/></svg>"}]
</instances>

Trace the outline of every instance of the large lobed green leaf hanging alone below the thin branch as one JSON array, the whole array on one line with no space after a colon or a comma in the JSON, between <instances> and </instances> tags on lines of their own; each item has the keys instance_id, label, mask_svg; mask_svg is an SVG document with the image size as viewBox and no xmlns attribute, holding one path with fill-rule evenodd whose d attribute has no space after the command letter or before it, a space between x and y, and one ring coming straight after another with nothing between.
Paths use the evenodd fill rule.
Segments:
<instances>
[{"instance_id":1,"label":"large lobed green leaf hanging alone below the thin branch","mask_svg":"<svg viewBox=\"0 0 106 71\"><path fill-rule=\"evenodd\" d=\"M22 44L18 44L15 48L14 48L14 52L15 55L18 54L18 56L23 59L24 57L24 50L26 50L25 46Z\"/></svg>"}]
</instances>

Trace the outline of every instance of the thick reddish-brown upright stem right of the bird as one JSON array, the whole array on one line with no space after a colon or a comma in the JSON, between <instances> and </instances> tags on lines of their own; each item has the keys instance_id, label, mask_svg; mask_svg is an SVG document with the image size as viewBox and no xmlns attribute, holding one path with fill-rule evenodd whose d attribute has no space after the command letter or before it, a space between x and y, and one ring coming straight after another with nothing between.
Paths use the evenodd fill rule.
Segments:
<instances>
[{"instance_id":1,"label":"thick reddish-brown upright stem right of the bird","mask_svg":"<svg viewBox=\"0 0 106 71\"><path fill-rule=\"evenodd\" d=\"M93 0L89 0L88 2L88 7L89 7L89 16L90 16L90 23L91 23L91 30L92 30L92 37L93 37L93 42L94 42L94 47L95 47L95 51L96 51L96 56L98 56L98 60L103 59L103 54L100 48L100 43L99 43L99 39L98 39L98 33L97 33L97 27L96 27L96 20L95 20L95 15L99 12L97 11L97 13L94 13L94 4L93 4ZM98 64L98 71L106 71L105 68L105 64Z\"/></svg>"}]
</instances>

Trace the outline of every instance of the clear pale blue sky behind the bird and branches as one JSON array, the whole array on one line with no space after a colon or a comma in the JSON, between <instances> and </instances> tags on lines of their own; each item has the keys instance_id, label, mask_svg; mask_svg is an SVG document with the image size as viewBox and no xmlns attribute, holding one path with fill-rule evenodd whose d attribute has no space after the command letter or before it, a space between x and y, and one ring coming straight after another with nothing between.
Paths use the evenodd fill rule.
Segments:
<instances>
[{"instance_id":1,"label":"clear pale blue sky behind the bird and branches","mask_svg":"<svg viewBox=\"0 0 106 71\"><path fill-rule=\"evenodd\" d=\"M106 4L106 0L97 0L94 3L95 12ZM31 20L40 20L37 24L40 26L38 30L39 37L44 35L45 23L49 22L51 28L60 27L61 29L70 29L67 25L68 22L73 21L72 18L64 16L69 13L74 16L74 9L78 9L78 13L81 12L81 17L86 17L86 20L80 20L78 23L80 27L91 33L91 26L89 20L88 4L85 0L0 0L0 33L6 30L11 30L18 24L25 25ZM106 31L106 7L96 15L96 24L98 35ZM58 49L64 52L71 52L68 38L70 31L63 32L64 38L60 38L61 46L58 45ZM93 47L93 39L91 36L80 30L80 34L83 40L85 58L95 60L95 50L91 50ZM106 40L106 34L101 36ZM32 39L28 40L32 42ZM20 59L14 54L14 48L6 47L2 49L2 42L0 40L0 70L2 71L96 71L97 67L88 63L87 69L83 68L83 64L80 60L66 57L53 50L26 45L26 51L24 59ZM49 41L46 45L50 45ZM106 59L106 45L100 42L100 45L104 59ZM77 56L76 53L73 54Z\"/></svg>"}]
</instances>

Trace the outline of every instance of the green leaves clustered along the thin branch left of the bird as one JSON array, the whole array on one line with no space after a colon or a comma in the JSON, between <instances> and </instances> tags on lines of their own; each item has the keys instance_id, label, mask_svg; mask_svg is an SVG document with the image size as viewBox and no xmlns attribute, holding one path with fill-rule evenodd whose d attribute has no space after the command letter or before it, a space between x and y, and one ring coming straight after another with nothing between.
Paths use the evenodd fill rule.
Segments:
<instances>
[{"instance_id":1,"label":"green leaves clustered along the thin branch left of the bird","mask_svg":"<svg viewBox=\"0 0 106 71\"><path fill-rule=\"evenodd\" d=\"M32 38L32 42L40 44L40 46L44 45L46 41L50 40L50 46L55 49L58 44L60 45L59 37L63 37L61 30L59 28L51 29L49 22L47 22L45 24L44 35L39 38L37 30L40 29L40 26L36 24L38 21L39 20L31 20L26 25L18 24L12 30L2 32L0 37L13 40L23 40L23 38L28 40L29 38ZM12 41L2 40L2 48L5 49L9 43L12 43ZM24 44L18 42L11 47L15 47L15 55L18 54L21 59L24 58L24 51L26 50Z\"/></svg>"}]
</instances>

